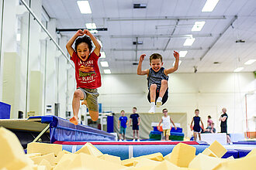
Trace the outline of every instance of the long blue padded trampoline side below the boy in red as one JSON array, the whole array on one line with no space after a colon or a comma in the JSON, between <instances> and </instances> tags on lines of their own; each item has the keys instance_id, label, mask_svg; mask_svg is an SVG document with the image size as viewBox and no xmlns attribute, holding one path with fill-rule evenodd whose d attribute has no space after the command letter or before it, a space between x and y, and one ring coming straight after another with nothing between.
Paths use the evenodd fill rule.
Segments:
<instances>
[{"instance_id":1,"label":"long blue padded trampoline side below the boy in red","mask_svg":"<svg viewBox=\"0 0 256 170\"><path fill-rule=\"evenodd\" d=\"M39 116L29 120L41 119L41 123L50 124L50 143L54 141L114 141L115 136L82 124L74 125L61 117Z\"/></svg>"}]
</instances>

